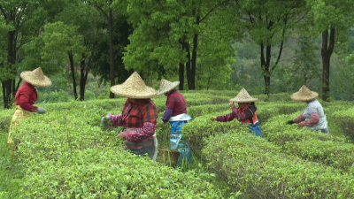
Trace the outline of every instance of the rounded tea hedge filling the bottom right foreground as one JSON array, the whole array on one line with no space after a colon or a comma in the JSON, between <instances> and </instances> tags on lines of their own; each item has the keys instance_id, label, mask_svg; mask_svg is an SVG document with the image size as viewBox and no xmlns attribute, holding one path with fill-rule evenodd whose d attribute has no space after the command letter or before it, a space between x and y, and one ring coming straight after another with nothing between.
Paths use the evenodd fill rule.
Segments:
<instances>
[{"instance_id":1,"label":"rounded tea hedge filling the bottom right foreground","mask_svg":"<svg viewBox=\"0 0 354 199\"><path fill-rule=\"evenodd\" d=\"M217 134L203 149L207 164L244 198L352 198L352 174L277 152L247 132Z\"/></svg>"}]
</instances>

